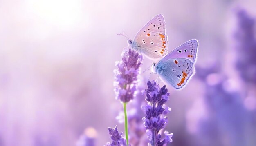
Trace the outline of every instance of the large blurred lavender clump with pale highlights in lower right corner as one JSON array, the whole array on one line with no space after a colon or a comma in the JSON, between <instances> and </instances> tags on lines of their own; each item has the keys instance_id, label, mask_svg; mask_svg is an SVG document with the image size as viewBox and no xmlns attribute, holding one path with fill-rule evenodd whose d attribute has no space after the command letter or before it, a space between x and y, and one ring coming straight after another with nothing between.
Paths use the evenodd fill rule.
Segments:
<instances>
[{"instance_id":1,"label":"large blurred lavender clump with pale highlights in lower right corner","mask_svg":"<svg viewBox=\"0 0 256 146\"><path fill-rule=\"evenodd\" d=\"M197 139L200 139L196 145L255 145L255 122L243 105L242 94L232 88L235 80L214 69L197 69L206 73L198 76L204 83L205 93L202 99L198 99L202 102L195 102L187 114L187 127L194 126L191 132L196 132Z\"/></svg>"}]
</instances>

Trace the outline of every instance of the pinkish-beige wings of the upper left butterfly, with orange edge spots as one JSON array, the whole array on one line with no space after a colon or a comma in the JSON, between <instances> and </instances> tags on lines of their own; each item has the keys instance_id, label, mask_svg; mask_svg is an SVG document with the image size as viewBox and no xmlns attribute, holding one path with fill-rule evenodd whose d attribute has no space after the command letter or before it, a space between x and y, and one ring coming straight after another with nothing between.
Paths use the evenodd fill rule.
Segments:
<instances>
[{"instance_id":1,"label":"pinkish-beige wings of the upper left butterfly, with orange edge spots","mask_svg":"<svg viewBox=\"0 0 256 146\"><path fill-rule=\"evenodd\" d=\"M166 23L162 14L150 20L134 38L139 51L148 58L161 58L167 53L168 40L165 34Z\"/></svg>"}]
</instances>

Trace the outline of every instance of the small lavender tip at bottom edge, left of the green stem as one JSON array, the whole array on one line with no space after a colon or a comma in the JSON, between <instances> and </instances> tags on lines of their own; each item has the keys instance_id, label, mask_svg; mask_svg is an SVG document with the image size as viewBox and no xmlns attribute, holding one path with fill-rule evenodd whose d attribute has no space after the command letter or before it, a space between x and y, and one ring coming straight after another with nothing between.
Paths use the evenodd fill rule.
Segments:
<instances>
[{"instance_id":1,"label":"small lavender tip at bottom edge, left of the green stem","mask_svg":"<svg viewBox=\"0 0 256 146\"><path fill-rule=\"evenodd\" d=\"M112 142L108 142L106 146L127 146L126 140L122 138L123 133L119 133L117 126L115 128L108 128L108 134Z\"/></svg>"}]
</instances>

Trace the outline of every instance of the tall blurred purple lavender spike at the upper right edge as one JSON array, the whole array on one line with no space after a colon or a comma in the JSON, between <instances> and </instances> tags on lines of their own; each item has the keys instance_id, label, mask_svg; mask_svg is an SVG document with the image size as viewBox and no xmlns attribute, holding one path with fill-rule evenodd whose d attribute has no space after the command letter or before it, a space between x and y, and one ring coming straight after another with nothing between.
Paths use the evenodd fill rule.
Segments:
<instances>
[{"instance_id":1,"label":"tall blurred purple lavender spike at the upper right edge","mask_svg":"<svg viewBox=\"0 0 256 146\"><path fill-rule=\"evenodd\" d=\"M255 20L243 9L236 13L238 28L234 33L236 43L236 69L245 82L256 83L256 39L254 35Z\"/></svg>"}]
</instances>

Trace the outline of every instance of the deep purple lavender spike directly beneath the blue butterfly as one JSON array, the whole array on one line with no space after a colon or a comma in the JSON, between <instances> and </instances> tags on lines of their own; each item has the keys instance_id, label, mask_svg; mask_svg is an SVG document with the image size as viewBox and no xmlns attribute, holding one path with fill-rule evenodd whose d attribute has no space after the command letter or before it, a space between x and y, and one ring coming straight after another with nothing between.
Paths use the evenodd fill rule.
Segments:
<instances>
[{"instance_id":1,"label":"deep purple lavender spike directly beneath the blue butterfly","mask_svg":"<svg viewBox=\"0 0 256 146\"><path fill-rule=\"evenodd\" d=\"M170 94L165 88L165 85L160 88L155 81L148 81L147 85L148 88L145 91L148 105L142 106L141 109L146 114L146 117L142 120L147 129L148 139L150 140L148 145L163 146L164 144L172 142L171 137L173 136L173 133L169 134L167 131L164 131L165 137L161 139L161 135L159 134L159 131L163 129L167 123L167 117L163 117L163 115L171 111L171 108L165 106Z\"/></svg>"}]
</instances>

